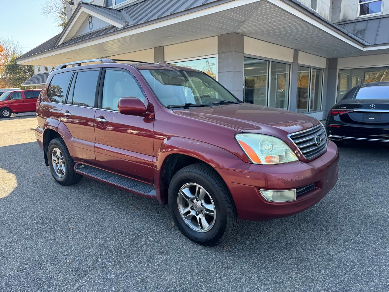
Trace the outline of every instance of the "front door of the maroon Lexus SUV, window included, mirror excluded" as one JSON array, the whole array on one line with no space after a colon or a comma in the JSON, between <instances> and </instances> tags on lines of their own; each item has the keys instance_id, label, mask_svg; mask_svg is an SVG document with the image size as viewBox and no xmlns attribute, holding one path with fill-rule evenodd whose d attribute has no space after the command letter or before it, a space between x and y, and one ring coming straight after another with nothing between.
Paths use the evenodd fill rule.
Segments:
<instances>
[{"instance_id":1,"label":"front door of the maroon Lexus SUV, window included, mirror excluded","mask_svg":"<svg viewBox=\"0 0 389 292\"><path fill-rule=\"evenodd\" d=\"M119 113L117 102L122 97L137 97L148 108L148 100L130 72L104 69L95 113L96 161L100 168L153 183L153 113Z\"/></svg>"}]
</instances>

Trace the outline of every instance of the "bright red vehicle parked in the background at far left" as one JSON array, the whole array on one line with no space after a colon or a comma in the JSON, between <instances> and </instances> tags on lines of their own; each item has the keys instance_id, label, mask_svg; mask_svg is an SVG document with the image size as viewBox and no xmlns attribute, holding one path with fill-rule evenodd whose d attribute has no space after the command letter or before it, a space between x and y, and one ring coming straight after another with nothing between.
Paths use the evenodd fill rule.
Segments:
<instances>
[{"instance_id":1,"label":"bright red vehicle parked in the background at far left","mask_svg":"<svg viewBox=\"0 0 389 292\"><path fill-rule=\"evenodd\" d=\"M9 118L12 113L26 113L35 111L38 90L11 90L0 96L0 117Z\"/></svg>"}]
</instances>

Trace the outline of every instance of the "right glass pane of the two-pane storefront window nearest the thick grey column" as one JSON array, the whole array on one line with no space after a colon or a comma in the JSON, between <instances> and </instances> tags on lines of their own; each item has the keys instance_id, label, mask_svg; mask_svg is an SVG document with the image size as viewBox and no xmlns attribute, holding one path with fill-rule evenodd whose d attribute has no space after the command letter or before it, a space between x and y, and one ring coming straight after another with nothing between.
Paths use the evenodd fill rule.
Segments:
<instances>
[{"instance_id":1,"label":"right glass pane of the two-pane storefront window nearest the thick grey column","mask_svg":"<svg viewBox=\"0 0 389 292\"><path fill-rule=\"evenodd\" d=\"M272 62L269 106L279 109L288 108L290 65Z\"/></svg>"}]
</instances>

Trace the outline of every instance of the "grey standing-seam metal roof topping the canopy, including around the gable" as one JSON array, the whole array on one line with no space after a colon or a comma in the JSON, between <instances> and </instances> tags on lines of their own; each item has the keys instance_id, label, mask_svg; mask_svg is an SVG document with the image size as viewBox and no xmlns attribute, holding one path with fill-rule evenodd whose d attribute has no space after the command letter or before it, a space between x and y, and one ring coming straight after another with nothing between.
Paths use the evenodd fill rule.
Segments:
<instances>
[{"instance_id":1,"label":"grey standing-seam metal roof topping the canopy, including around the gable","mask_svg":"<svg viewBox=\"0 0 389 292\"><path fill-rule=\"evenodd\" d=\"M108 7L103 7L99 5L94 4L88 4L85 2L80 2L77 9L81 9L81 7L88 7L92 8L93 10L98 9L99 11L104 12L104 14L109 13L113 17L117 19L125 19L126 25L124 25L122 28L118 28L117 26L111 25L109 27L103 28L101 30L96 30L91 33L87 33L84 35L80 35L78 37L74 37L73 39L67 40L63 42L62 44L56 44L61 39L61 35L64 33L60 33L59 35L56 35L55 37L51 38L47 42L44 42L38 47L35 47L34 49L28 51L27 53L19 56L16 60L20 60L32 55L37 55L40 53L44 53L51 49L56 49L68 45L72 45L75 43L79 43L82 41L86 41L89 39L95 39L97 37L102 37L109 34L114 34L117 31L122 30L130 30L134 26L140 26L144 23L151 23L159 21L159 19L163 18L173 18L177 15L186 14L189 12L189 10L193 11L196 9L203 9L210 6L215 6L219 4L223 4L225 2L229 2L231 0L144 0L141 2L137 2L135 4L130 4L126 7L123 7L121 10L112 9ZM301 2L297 0L286 0L285 2L288 2L289 5L295 5L300 7L305 12L310 12L310 14L313 14L317 18L324 21L327 25L332 26L335 30L340 30L341 32L348 35L350 38L356 40L357 42L363 44L363 45L369 45L369 42L364 41L362 38L353 35L352 33L348 32L347 30L343 29L341 26L335 25L334 23L331 23L327 19L323 18L319 14L317 14L314 10L310 9L309 7L301 4ZM77 11L76 9L76 11ZM74 12L73 16L75 16L76 11ZM68 25L71 25L72 18L69 19Z\"/></svg>"}]
</instances>

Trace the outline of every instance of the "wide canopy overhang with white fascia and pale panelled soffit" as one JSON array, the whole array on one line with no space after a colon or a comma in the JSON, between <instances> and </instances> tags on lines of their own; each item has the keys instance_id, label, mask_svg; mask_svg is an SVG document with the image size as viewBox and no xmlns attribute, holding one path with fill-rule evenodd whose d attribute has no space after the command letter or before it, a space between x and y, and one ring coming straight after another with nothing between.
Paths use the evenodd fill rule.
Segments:
<instances>
[{"instance_id":1,"label":"wide canopy overhang with white fascia and pale panelled soffit","mask_svg":"<svg viewBox=\"0 0 389 292\"><path fill-rule=\"evenodd\" d=\"M373 55L389 51L389 45L368 46L363 40L348 35L290 0L232 0L216 3L203 9L189 10L169 18L155 19L142 25L59 45L19 58L18 63L57 65L233 32L325 58ZM83 12L86 13L84 10ZM94 13L96 16L97 12ZM72 31L72 27L65 30ZM66 39L64 35L66 33L61 33L58 37L58 44Z\"/></svg>"}]
</instances>

